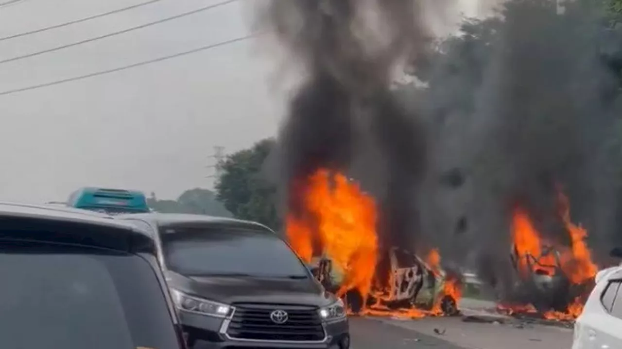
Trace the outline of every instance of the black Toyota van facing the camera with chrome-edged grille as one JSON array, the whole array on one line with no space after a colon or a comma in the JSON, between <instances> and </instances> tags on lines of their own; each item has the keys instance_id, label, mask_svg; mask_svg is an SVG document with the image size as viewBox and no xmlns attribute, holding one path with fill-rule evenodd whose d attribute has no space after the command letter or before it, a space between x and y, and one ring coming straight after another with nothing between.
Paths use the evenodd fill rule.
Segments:
<instances>
[{"instance_id":1,"label":"black Toyota van facing the camera with chrome-edged grille","mask_svg":"<svg viewBox=\"0 0 622 349\"><path fill-rule=\"evenodd\" d=\"M116 219L151 230L190 347L350 347L341 300L264 225L155 212Z\"/></svg>"}]
</instances>

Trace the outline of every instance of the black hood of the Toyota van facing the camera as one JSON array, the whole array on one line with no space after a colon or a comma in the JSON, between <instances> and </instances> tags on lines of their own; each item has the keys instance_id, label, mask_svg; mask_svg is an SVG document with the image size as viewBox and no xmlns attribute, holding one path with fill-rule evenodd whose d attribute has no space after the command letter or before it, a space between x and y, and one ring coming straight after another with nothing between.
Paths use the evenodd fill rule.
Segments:
<instances>
[{"instance_id":1,"label":"black hood of the Toyota van facing the camera","mask_svg":"<svg viewBox=\"0 0 622 349\"><path fill-rule=\"evenodd\" d=\"M184 276L167 271L170 288L225 304L268 303L324 307L337 301L315 279L247 276Z\"/></svg>"}]
</instances>

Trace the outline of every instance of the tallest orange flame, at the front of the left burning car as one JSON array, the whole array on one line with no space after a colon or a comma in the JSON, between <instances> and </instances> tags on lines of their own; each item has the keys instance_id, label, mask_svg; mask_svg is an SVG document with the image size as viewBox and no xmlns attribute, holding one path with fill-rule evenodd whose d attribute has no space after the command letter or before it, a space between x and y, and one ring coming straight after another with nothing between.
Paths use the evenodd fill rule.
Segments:
<instances>
[{"instance_id":1,"label":"tallest orange flame, at the front of the left burning car","mask_svg":"<svg viewBox=\"0 0 622 349\"><path fill-rule=\"evenodd\" d=\"M365 299L371 291L378 253L374 199L343 174L328 170L318 170L306 184L304 206L317 221L302 222L288 215L285 224L290 245L300 258L310 261L313 237L317 237L322 251L344 271L338 296L356 289Z\"/></svg>"}]
</instances>

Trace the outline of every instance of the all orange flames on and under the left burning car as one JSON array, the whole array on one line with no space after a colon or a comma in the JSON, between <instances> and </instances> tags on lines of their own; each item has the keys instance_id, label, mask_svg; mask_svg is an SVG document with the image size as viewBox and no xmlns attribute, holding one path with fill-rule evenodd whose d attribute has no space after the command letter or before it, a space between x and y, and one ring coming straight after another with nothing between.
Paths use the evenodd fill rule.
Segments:
<instances>
[{"instance_id":1,"label":"all orange flames on and under the left burning car","mask_svg":"<svg viewBox=\"0 0 622 349\"><path fill-rule=\"evenodd\" d=\"M445 278L442 296L435 300L433 309L415 307L389 309L381 304L386 300L383 292L374 289L374 273L378 262L377 210L373 197L341 173L321 169L306 179L301 187L304 217L287 215L285 233L291 247L304 261L310 262L319 252L332 260L333 267L343 271L343 280L337 296L356 290L363 300L361 315L391 316L417 319L426 315L442 315L443 296L458 301L462 295L458 280ZM300 189L300 188L299 188ZM430 252L428 263L433 272L443 275L438 250ZM392 274L389 275L389 278ZM394 283L389 282L389 287ZM368 295L374 292L376 304L365 307Z\"/></svg>"}]
</instances>

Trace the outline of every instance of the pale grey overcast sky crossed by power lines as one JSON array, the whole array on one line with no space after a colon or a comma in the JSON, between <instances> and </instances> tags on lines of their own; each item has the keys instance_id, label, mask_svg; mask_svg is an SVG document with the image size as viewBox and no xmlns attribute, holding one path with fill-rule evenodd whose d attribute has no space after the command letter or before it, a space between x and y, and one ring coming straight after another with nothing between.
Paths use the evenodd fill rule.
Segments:
<instances>
[{"instance_id":1,"label":"pale grey overcast sky crossed by power lines","mask_svg":"<svg viewBox=\"0 0 622 349\"><path fill-rule=\"evenodd\" d=\"M0 42L0 60L88 39L221 0L163 0ZM253 0L246 0L253 1ZM475 0L463 0L465 11ZM23 0L0 8L0 36L142 0ZM475 7L474 7L475 6ZM0 64L0 91L191 50L249 32L244 1L78 47ZM0 198L64 200L80 186L177 197L210 188L212 147L234 152L274 135L280 62L248 40L49 88L0 96Z\"/></svg>"}]
</instances>

